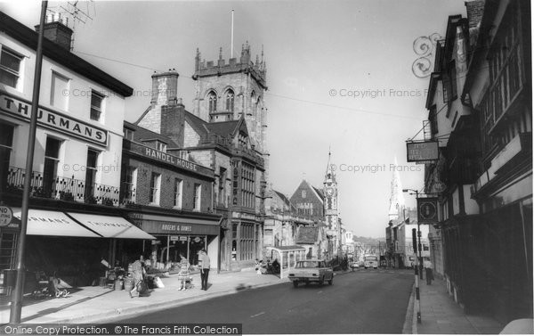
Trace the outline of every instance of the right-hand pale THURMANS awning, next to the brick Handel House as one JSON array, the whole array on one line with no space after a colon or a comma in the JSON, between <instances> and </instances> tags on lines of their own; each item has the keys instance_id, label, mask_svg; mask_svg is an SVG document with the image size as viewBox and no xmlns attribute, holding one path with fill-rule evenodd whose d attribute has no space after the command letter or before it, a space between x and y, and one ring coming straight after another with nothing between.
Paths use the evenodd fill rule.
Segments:
<instances>
[{"instance_id":1,"label":"right-hand pale THURMANS awning, next to the brick Handel House","mask_svg":"<svg viewBox=\"0 0 534 336\"><path fill-rule=\"evenodd\" d=\"M85 225L97 234L101 234L105 238L156 239L123 217L80 214L76 212L69 212L68 214L69 217L74 218L82 225Z\"/></svg>"}]
</instances>

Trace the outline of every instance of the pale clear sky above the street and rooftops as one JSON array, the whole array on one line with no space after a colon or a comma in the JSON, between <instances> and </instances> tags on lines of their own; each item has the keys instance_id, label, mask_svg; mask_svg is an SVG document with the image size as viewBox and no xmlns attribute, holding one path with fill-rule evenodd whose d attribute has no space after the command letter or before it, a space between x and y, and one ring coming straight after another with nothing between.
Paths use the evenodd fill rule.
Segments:
<instances>
[{"instance_id":1,"label":"pale clear sky above the street and rooftops","mask_svg":"<svg viewBox=\"0 0 534 336\"><path fill-rule=\"evenodd\" d=\"M48 8L72 10L67 2ZM233 9L234 57L248 41L253 60L263 46L267 63L274 189L290 196L303 178L322 188L331 152L344 227L378 238L394 171L404 188L424 185L424 166L406 162L405 141L428 116L429 78L412 71L414 42L443 37L449 15L465 17L464 0L93 1L77 9L81 20L69 18L73 53L134 88L126 120L150 105L154 71L178 71L178 96L192 111L196 49L206 61L217 60L220 47L231 57ZM0 2L0 10L34 27L40 3ZM415 207L414 196L404 199Z\"/></svg>"}]
</instances>

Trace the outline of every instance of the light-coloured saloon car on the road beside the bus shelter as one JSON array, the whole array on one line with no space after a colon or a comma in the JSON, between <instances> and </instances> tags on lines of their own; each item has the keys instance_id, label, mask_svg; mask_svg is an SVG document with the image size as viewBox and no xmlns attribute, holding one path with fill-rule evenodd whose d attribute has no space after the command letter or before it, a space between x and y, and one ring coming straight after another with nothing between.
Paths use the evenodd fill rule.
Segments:
<instances>
[{"instance_id":1,"label":"light-coloured saloon car on the road beside the bus shelter","mask_svg":"<svg viewBox=\"0 0 534 336\"><path fill-rule=\"evenodd\" d=\"M320 259L297 261L295 268L289 272L287 277L295 287L298 287L298 283L319 283L320 285L325 281L328 281L328 284L334 283L332 267L328 267L327 263Z\"/></svg>"}]
</instances>

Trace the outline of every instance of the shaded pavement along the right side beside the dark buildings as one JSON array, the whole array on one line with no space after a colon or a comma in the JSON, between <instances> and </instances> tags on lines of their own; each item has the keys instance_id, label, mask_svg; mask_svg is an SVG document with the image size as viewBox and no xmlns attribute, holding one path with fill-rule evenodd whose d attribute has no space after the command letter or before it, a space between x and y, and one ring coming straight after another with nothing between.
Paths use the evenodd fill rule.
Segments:
<instances>
[{"instance_id":1,"label":"shaded pavement along the right side beside the dark buildings","mask_svg":"<svg viewBox=\"0 0 534 336\"><path fill-rule=\"evenodd\" d=\"M412 296L415 296L415 291ZM419 297L421 323L417 323L417 307L414 304L412 333L498 334L505 327L489 316L466 315L449 295L446 283L437 277L431 285L420 280Z\"/></svg>"}]
</instances>

